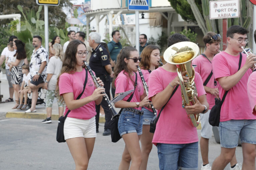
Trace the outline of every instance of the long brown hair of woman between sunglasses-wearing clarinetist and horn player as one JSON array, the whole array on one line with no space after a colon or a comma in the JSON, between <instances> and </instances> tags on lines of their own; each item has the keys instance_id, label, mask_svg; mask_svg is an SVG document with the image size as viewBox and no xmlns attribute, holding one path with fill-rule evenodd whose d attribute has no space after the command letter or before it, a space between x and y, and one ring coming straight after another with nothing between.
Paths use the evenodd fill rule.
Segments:
<instances>
[{"instance_id":1,"label":"long brown hair of woman between sunglasses-wearing clarinetist and horn player","mask_svg":"<svg viewBox=\"0 0 256 170\"><path fill-rule=\"evenodd\" d=\"M139 63L140 68L144 69L144 70L148 70L150 68L150 55L152 53L153 50L159 49L159 47L154 46L154 45L147 45L143 51L141 52L140 57L141 62ZM158 66L155 67L156 69L158 68Z\"/></svg>"}]
</instances>

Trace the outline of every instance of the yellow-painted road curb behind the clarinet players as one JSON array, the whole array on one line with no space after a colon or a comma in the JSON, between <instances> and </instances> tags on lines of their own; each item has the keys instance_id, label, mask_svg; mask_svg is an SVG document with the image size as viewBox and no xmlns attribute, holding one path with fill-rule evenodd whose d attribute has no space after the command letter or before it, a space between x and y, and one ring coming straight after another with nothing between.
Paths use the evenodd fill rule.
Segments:
<instances>
[{"instance_id":1,"label":"yellow-painted road curb behind the clarinet players","mask_svg":"<svg viewBox=\"0 0 256 170\"><path fill-rule=\"evenodd\" d=\"M45 119L46 113L22 113L22 112L7 112L6 118L27 118L27 119ZM58 120L57 114L51 115L51 120ZM100 116L99 123L105 123L105 116Z\"/></svg>"}]
</instances>

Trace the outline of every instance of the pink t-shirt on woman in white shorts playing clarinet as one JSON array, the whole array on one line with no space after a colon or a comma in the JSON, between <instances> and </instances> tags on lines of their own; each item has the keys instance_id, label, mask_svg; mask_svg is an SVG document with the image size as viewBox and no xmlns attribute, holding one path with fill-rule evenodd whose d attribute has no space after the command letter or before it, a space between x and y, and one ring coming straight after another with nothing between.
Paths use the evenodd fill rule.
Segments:
<instances>
[{"instance_id":1,"label":"pink t-shirt on woman in white shorts playing clarinet","mask_svg":"<svg viewBox=\"0 0 256 170\"><path fill-rule=\"evenodd\" d=\"M63 73L59 77L59 94L72 92L74 94L74 99L76 99L79 94L82 93L84 89L84 82L86 77L86 71L83 69L82 72L76 72L74 74ZM85 91L80 97L80 99L88 97L93 94L96 87L94 86L93 79L88 72L87 84L85 86ZM68 112L68 107L66 106L65 114ZM64 115L65 115L64 114ZM95 101L91 101L86 105L79 107L77 109L71 110L68 117L73 117L77 119L90 119L96 115Z\"/></svg>"}]
</instances>

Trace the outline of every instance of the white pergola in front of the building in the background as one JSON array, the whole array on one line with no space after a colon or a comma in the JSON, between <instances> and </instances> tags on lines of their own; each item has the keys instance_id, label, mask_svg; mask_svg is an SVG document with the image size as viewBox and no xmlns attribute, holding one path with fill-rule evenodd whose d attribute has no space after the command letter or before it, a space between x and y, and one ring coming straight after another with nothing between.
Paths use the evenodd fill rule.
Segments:
<instances>
[{"instance_id":1,"label":"white pergola in front of the building in the background","mask_svg":"<svg viewBox=\"0 0 256 170\"><path fill-rule=\"evenodd\" d=\"M143 13L159 12L167 21L167 31L171 30L172 15L176 13L171 6L167 7L150 7L149 11L139 11ZM167 16L164 14L167 12ZM128 8L110 8L110 9L97 9L94 11L85 12L86 15L86 38L89 39L89 24L95 19L96 20L96 32L99 32L99 22L107 15L109 19L109 34L112 33L112 23L120 14L134 14L135 11L128 11ZM114 14L114 17L112 17Z\"/></svg>"}]
</instances>

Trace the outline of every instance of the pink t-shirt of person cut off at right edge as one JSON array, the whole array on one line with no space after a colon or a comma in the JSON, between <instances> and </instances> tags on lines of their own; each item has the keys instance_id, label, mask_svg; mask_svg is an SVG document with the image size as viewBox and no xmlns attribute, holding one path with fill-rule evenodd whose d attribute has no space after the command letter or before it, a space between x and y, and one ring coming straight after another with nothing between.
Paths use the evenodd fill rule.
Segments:
<instances>
[{"instance_id":1,"label":"pink t-shirt of person cut off at right edge","mask_svg":"<svg viewBox=\"0 0 256 170\"><path fill-rule=\"evenodd\" d=\"M256 105L256 72L253 72L247 83L247 94L249 97L250 105L251 105L251 112L252 114L256 115L255 105Z\"/></svg>"}]
</instances>

